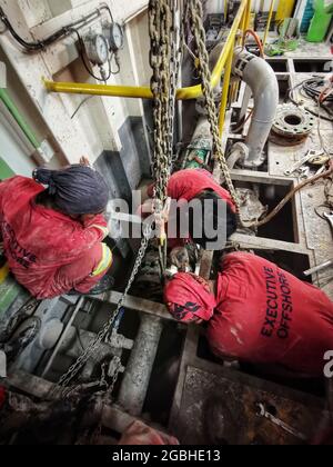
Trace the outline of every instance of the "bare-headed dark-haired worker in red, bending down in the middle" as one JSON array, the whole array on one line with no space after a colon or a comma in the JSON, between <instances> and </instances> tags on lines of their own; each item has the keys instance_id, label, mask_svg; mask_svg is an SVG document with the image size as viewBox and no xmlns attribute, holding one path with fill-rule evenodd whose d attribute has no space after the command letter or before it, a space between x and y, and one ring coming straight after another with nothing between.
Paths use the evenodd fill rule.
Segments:
<instances>
[{"instance_id":1,"label":"bare-headed dark-haired worker in red, bending down in the middle","mask_svg":"<svg viewBox=\"0 0 333 467\"><path fill-rule=\"evenodd\" d=\"M154 191L154 185L148 187L147 195L150 198L141 207L141 212L148 213L152 210L152 199ZM225 212L223 212L224 218L221 225L225 228L225 239L229 238L234 231L236 230L236 208L232 201L232 198L224 188L222 188L213 178L213 176L204 169L185 169L180 170L171 176L169 183L168 183L168 197L175 201L192 201L193 199L198 199L201 201L202 205L202 220L206 221L208 218L211 218L213 221L213 227L216 229L218 226L218 201L222 201L225 203ZM213 202L213 211L212 216L206 216L204 210L205 201ZM206 205L208 206L208 205ZM189 212L189 236L188 239L191 238L195 244L200 245L202 248L206 249L206 245L215 241L214 239L209 239L204 235L205 231L202 229L202 235L198 236L195 234L195 215L193 211L190 210ZM198 226L196 226L198 227ZM201 230L201 229L200 229ZM184 239L185 240L185 239ZM170 239L169 247L175 248L183 246L185 241L181 241L181 239ZM221 248L219 248L221 249Z\"/></svg>"}]
</instances>

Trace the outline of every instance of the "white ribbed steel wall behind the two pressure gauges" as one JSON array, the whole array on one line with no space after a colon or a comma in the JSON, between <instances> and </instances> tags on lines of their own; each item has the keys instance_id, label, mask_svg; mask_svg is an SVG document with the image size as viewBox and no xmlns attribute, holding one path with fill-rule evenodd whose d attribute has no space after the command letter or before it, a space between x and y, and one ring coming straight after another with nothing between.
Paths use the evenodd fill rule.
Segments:
<instances>
[{"instance_id":1,"label":"white ribbed steel wall behind the two pressure gauges","mask_svg":"<svg viewBox=\"0 0 333 467\"><path fill-rule=\"evenodd\" d=\"M147 21L148 0L98 1L98 0L0 0L17 32L28 41L42 39L62 26L90 13L101 3L108 3L117 22L124 24L125 42L120 51L121 72L112 76L110 85L148 85L149 34ZM108 12L103 20L110 20ZM99 31L101 20L80 30L82 34ZM56 157L52 166L65 161L75 163L85 155L93 163L104 151L120 151L121 141L118 130L130 116L143 116L140 100L120 98L89 99L71 118L84 96L48 93L42 78L56 81L95 82L84 70L75 47L77 38L60 40L46 51L27 53L12 39L10 33L0 32L0 46L10 61L16 78L26 90L26 97L16 95L14 86L11 96L21 107L31 108L28 121L34 127L36 112L40 117L38 133L48 139L54 147ZM115 67L113 62L113 67ZM98 68L94 72L99 73ZM26 99L27 102L22 102ZM18 103L18 101L17 101ZM29 112L28 112L29 113ZM26 113L27 115L27 113ZM29 118L30 117L30 118ZM32 121L31 121L32 120Z\"/></svg>"}]
</instances>

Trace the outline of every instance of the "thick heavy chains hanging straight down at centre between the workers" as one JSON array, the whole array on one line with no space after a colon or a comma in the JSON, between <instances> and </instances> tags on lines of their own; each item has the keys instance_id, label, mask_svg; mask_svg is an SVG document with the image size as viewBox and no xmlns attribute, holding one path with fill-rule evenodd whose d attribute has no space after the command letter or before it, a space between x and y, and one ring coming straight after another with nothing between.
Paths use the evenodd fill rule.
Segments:
<instances>
[{"instance_id":1,"label":"thick heavy chains hanging straight down at centre between the workers","mask_svg":"<svg viewBox=\"0 0 333 467\"><path fill-rule=\"evenodd\" d=\"M165 267L168 219L168 183L173 157L174 109L182 44L176 27L176 0L150 0L149 33L151 40L150 66L153 93L154 155L154 217L159 237L162 269ZM180 46L178 48L178 43Z\"/></svg>"}]
</instances>

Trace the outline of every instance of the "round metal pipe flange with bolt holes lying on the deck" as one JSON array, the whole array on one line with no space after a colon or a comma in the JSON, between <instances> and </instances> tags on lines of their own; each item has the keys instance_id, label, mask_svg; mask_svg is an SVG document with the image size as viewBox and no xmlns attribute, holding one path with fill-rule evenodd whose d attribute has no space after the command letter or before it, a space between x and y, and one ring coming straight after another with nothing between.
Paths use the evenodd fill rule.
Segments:
<instances>
[{"instance_id":1,"label":"round metal pipe flange with bolt holes lying on the deck","mask_svg":"<svg viewBox=\"0 0 333 467\"><path fill-rule=\"evenodd\" d=\"M315 126L315 117L296 106L284 105L278 109L271 140L294 145L307 138Z\"/></svg>"}]
</instances>

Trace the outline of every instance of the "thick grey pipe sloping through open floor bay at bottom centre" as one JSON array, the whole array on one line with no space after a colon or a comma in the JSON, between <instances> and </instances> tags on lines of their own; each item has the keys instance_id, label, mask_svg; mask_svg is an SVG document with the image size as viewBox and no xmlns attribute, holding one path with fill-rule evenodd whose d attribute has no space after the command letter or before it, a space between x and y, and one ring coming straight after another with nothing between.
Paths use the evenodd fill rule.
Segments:
<instances>
[{"instance_id":1,"label":"thick grey pipe sloping through open floor bay at bottom centre","mask_svg":"<svg viewBox=\"0 0 333 467\"><path fill-rule=\"evenodd\" d=\"M162 329L161 319L142 315L118 398L118 403L133 416L142 413Z\"/></svg>"}]
</instances>

